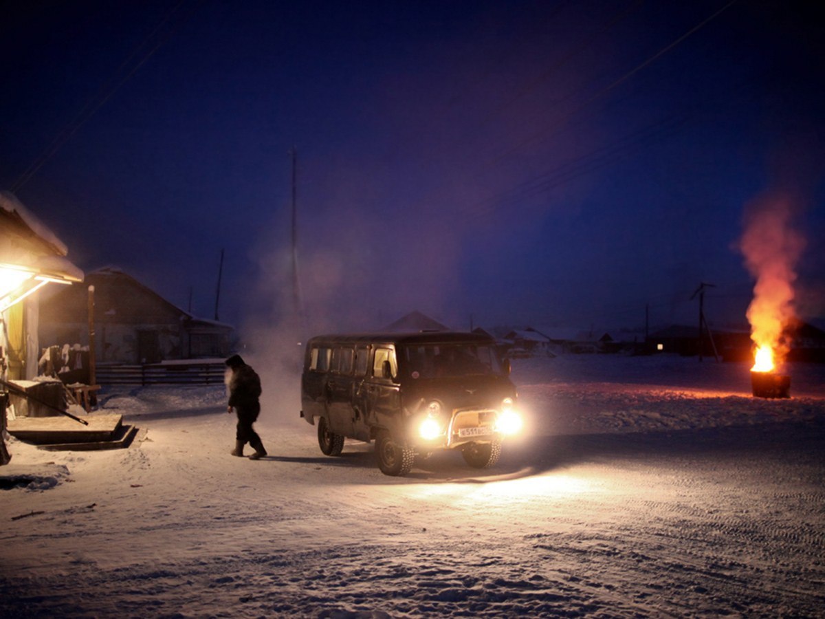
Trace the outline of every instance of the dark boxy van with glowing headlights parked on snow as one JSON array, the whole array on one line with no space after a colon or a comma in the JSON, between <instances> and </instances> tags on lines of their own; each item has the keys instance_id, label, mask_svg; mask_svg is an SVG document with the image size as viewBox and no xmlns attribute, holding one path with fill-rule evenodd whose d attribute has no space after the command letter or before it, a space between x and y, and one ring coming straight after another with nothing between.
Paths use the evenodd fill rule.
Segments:
<instances>
[{"instance_id":1,"label":"dark boxy van with glowing headlights parked on snow","mask_svg":"<svg viewBox=\"0 0 825 619\"><path fill-rule=\"evenodd\" d=\"M493 466L502 439L521 429L508 360L478 333L366 333L309 339L300 416L338 456L345 439L375 441L385 475L407 475L415 456L459 450Z\"/></svg>"}]
</instances>

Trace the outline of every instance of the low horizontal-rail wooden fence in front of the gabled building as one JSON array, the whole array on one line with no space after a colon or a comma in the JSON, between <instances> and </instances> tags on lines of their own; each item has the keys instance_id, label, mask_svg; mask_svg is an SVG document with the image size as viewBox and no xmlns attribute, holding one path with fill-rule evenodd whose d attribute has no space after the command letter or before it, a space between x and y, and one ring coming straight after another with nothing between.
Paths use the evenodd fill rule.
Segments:
<instances>
[{"instance_id":1,"label":"low horizontal-rail wooden fence in front of the gabled building","mask_svg":"<svg viewBox=\"0 0 825 619\"><path fill-rule=\"evenodd\" d=\"M98 385L219 385L224 382L223 362L191 361L144 366L99 365Z\"/></svg>"}]
</instances>

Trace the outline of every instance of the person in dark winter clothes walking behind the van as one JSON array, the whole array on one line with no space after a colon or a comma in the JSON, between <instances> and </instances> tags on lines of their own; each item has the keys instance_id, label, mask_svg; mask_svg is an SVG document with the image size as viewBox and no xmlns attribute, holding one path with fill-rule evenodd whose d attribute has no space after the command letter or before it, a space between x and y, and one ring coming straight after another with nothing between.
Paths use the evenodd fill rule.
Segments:
<instances>
[{"instance_id":1,"label":"person in dark winter clothes walking behind the van","mask_svg":"<svg viewBox=\"0 0 825 619\"><path fill-rule=\"evenodd\" d=\"M238 414L238 429L235 433L235 448L232 450L233 456L243 456L243 446L249 443L249 447L255 450L250 460L258 460L266 456L266 449L263 448L261 437L252 429L252 423L257 420L258 413L261 412L261 379L252 366L247 366L240 355L233 355L226 360L229 368L226 373L226 384L229 387L229 404L226 407L227 413Z\"/></svg>"}]
</instances>

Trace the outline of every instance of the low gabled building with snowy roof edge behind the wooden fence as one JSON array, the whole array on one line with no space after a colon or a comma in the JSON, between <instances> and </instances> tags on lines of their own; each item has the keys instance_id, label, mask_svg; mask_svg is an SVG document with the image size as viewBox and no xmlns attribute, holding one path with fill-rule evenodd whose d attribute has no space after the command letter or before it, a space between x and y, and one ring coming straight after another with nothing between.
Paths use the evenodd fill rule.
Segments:
<instances>
[{"instance_id":1,"label":"low gabled building with snowy roof edge behind the wooden fence","mask_svg":"<svg viewBox=\"0 0 825 619\"><path fill-rule=\"evenodd\" d=\"M89 286L94 286L99 362L145 364L229 355L231 325L198 319L116 268L88 273L83 286L41 300L43 346L87 345Z\"/></svg>"}]
</instances>

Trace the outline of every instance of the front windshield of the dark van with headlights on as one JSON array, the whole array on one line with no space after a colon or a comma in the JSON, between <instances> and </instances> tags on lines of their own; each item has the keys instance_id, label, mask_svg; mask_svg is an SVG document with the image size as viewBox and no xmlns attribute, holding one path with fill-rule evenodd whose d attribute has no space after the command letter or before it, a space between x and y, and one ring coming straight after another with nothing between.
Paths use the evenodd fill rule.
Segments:
<instances>
[{"instance_id":1,"label":"front windshield of the dark van with headlights on","mask_svg":"<svg viewBox=\"0 0 825 619\"><path fill-rule=\"evenodd\" d=\"M407 344L398 355L401 371L413 378L501 374L492 346L476 344Z\"/></svg>"}]
</instances>

